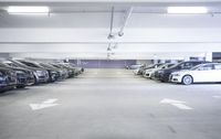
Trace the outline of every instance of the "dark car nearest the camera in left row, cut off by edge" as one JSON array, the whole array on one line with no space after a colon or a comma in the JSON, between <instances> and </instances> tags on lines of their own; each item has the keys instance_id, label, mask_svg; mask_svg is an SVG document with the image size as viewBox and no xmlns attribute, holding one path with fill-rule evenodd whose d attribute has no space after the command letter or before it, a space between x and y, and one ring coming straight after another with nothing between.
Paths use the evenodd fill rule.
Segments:
<instances>
[{"instance_id":1,"label":"dark car nearest the camera in left row, cut off by edge","mask_svg":"<svg viewBox=\"0 0 221 139\"><path fill-rule=\"evenodd\" d=\"M15 87L17 74L10 68L0 67L0 92Z\"/></svg>"}]
</instances>

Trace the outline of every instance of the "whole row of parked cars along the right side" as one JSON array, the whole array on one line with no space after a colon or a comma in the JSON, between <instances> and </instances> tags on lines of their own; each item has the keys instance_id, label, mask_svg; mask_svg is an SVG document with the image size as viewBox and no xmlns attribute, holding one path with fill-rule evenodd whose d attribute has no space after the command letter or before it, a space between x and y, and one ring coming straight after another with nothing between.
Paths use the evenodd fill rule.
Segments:
<instances>
[{"instance_id":1,"label":"whole row of parked cars along the right side","mask_svg":"<svg viewBox=\"0 0 221 139\"><path fill-rule=\"evenodd\" d=\"M158 63L151 65L133 65L134 74L161 82L181 83L220 83L221 64L207 61L188 61L178 64Z\"/></svg>"}]
</instances>

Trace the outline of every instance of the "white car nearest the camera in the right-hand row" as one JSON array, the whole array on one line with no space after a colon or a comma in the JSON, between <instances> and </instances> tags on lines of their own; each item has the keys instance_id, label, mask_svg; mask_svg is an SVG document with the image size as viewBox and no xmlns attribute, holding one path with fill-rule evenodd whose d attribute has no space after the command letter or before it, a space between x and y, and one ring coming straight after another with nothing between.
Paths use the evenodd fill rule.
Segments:
<instances>
[{"instance_id":1,"label":"white car nearest the camera in the right-hand row","mask_svg":"<svg viewBox=\"0 0 221 139\"><path fill-rule=\"evenodd\" d=\"M221 64L200 64L188 71L171 73L170 82L190 85L192 83L221 82Z\"/></svg>"}]
</instances>

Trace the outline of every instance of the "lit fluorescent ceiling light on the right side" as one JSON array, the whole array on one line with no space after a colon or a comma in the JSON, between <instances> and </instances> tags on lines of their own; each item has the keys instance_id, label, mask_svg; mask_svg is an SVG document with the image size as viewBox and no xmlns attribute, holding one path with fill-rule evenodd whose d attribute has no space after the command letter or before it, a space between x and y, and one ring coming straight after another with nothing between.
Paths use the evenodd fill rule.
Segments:
<instances>
[{"instance_id":1,"label":"lit fluorescent ceiling light on the right side","mask_svg":"<svg viewBox=\"0 0 221 139\"><path fill-rule=\"evenodd\" d=\"M167 12L178 14L199 14L208 13L208 9L206 7L168 7Z\"/></svg>"}]
</instances>

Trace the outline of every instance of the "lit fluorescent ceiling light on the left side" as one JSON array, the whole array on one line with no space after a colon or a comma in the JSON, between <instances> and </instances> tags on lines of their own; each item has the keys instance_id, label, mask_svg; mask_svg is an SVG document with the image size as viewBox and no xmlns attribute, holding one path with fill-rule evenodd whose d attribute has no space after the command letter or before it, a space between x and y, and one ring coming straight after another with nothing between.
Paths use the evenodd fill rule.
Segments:
<instances>
[{"instance_id":1,"label":"lit fluorescent ceiling light on the left side","mask_svg":"<svg viewBox=\"0 0 221 139\"><path fill-rule=\"evenodd\" d=\"M23 13L49 13L49 7L9 7L7 10L9 13L23 14Z\"/></svg>"}]
</instances>

